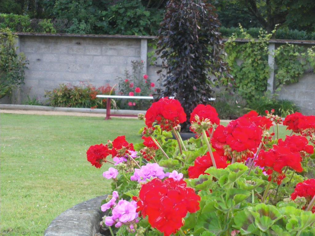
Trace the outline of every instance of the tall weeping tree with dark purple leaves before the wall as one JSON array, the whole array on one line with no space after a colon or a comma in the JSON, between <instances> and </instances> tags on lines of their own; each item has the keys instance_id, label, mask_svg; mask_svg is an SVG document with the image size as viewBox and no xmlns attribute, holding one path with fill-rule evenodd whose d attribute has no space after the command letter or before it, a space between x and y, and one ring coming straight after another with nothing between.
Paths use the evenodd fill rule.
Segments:
<instances>
[{"instance_id":1,"label":"tall weeping tree with dark purple leaves before the wall","mask_svg":"<svg viewBox=\"0 0 315 236\"><path fill-rule=\"evenodd\" d=\"M219 26L215 8L204 0L167 3L157 43L157 53L167 61L161 96L177 98L188 115L197 104L209 102L209 76L226 76Z\"/></svg>"}]
</instances>

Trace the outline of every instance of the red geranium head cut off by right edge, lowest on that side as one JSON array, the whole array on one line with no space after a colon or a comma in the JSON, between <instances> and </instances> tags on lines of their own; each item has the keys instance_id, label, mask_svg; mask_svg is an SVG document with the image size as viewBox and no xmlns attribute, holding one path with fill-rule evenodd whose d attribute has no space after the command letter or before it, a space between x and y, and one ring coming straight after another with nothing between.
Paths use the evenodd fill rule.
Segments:
<instances>
[{"instance_id":1,"label":"red geranium head cut off by right edge, lowest on that side","mask_svg":"<svg viewBox=\"0 0 315 236\"><path fill-rule=\"evenodd\" d=\"M308 179L302 183L298 183L295 187L293 194L291 194L291 199L295 200L296 197L305 197L306 205L302 209L305 209L306 206L310 203L312 198L315 195L315 179ZM312 207L312 212L315 213L315 206Z\"/></svg>"}]
</instances>

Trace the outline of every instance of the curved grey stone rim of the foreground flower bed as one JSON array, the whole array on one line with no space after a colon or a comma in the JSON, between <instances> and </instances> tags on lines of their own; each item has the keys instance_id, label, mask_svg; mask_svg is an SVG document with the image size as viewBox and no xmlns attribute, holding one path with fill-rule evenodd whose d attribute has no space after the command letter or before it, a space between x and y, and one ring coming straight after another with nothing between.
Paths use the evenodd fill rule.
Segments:
<instances>
[{"instance_id":1,"label":"curved grey stone rim of the foreground flower bed","mask_svg":"<svg viewBox=\"0 0 315 236\"><path fill-rule=\"evenodd\" d=\"M107 195L96 197L62 212L47 227L44 236L94 236L104 216L100 203Z\"/></svg>"}]
</instances>

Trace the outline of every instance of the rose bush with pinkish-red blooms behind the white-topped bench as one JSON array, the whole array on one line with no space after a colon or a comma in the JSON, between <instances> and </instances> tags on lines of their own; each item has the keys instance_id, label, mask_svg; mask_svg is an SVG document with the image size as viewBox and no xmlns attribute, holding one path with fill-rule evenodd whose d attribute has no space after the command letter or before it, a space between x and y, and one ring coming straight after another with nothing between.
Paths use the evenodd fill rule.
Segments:
<instances>
[{"instance_id":1,"label":"rose bush with pinkish-red blooms behind the white-topped bench","mask_svg":"<svg viewBox=\"0 0 315 236\"><path fill-rule=\"evenodd\" d=\"M143 74L143 61L131 61L132 72L125 70L125 78L117 77L120 95L125 96L152 96L155 83ZM139 88L139 89L137 89ZM146 110L152 101L146 99L117 100L120 109Z\"/></svg>"}]
</instances>

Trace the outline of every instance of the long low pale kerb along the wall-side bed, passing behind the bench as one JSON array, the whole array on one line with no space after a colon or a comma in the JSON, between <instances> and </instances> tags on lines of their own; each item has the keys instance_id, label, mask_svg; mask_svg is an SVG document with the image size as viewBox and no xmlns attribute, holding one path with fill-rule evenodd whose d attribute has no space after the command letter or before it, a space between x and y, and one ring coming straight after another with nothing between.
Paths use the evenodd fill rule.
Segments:
<instances>
[{"instance_id":1,"label":"long low pale kerb along the wall-side bed, passing behind the bench","mask_svg":"<svg viewBox=\"0 0 315 236\"><path fill-rule=\"evenodd\" d=\"M101 113L101 114L106 115L106 109L90 109L90 108L72 108L72 107L50 107L50 106L0 104L0 109ZM142 110L115 110L115 109L111 109L111 115L138 115L138 113L146 114L146 111L142 111Z\"/></svg>"}]
</instances>

